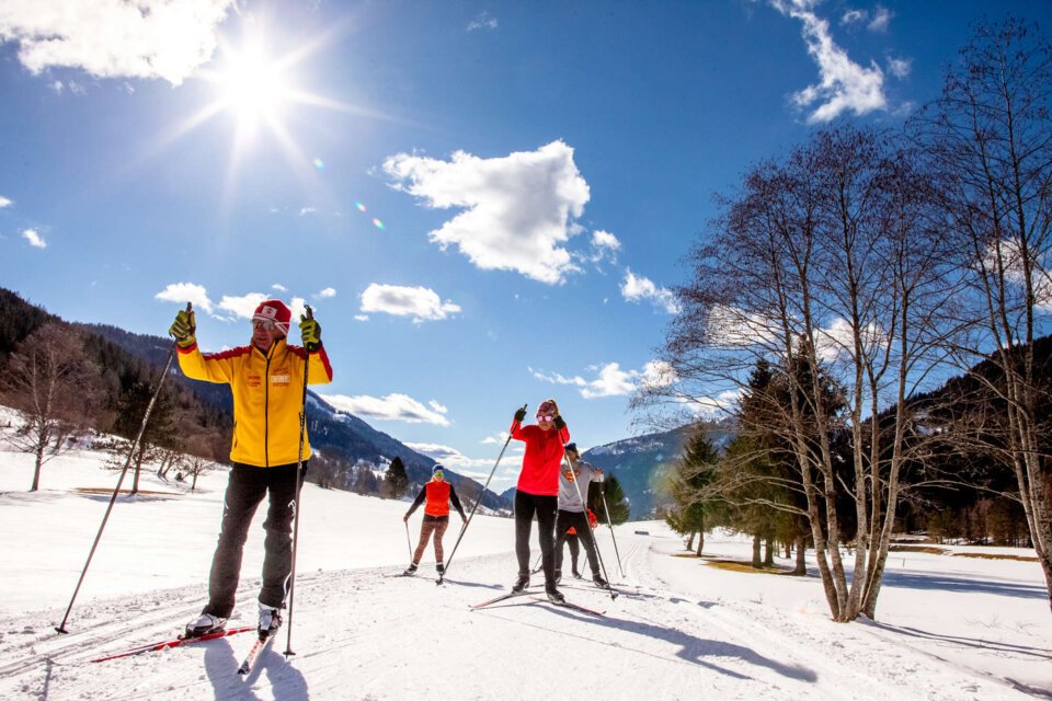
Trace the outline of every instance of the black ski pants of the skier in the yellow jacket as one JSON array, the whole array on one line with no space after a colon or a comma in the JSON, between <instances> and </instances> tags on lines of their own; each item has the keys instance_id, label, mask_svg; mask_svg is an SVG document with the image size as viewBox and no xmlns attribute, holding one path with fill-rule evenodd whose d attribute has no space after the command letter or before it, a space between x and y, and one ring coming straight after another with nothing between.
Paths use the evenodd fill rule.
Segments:
<instances>
[{"instance_id":1,"label":"black ski pants of the skier in the yellow jacket","mask_svg":"<svg viewBox=\"0 0 1052 701\"><path fill-rule=\"evenodd\" d=\"M304 462L301 476L307 474ZM263 529L263 587L260 602L273 608L285 605L293 570L293 518L296 515L296 464L258 468L235 462L222 499L219 543L208 575L205 613L230 618L241 576L241 558L255 509L270 495Z\"/></svg>"}]
</instances>

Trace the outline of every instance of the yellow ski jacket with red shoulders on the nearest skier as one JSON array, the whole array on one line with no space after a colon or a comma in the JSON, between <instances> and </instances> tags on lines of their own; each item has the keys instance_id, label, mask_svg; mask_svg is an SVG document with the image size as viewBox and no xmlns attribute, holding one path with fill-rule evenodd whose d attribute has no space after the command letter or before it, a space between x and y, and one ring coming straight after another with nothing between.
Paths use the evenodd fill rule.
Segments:
<instances>
[{"instance_id":1,"label":"yellow ski jacket with red shoulders on the nearest skier","mask_svg":"<svg viewBox=\"0 0 1052 701\"><path fill-rule=\"evenodd\" d=\"M186 377L227 383L233 394L233 440L230 460L268 468L293 464L299 458L299 411L304 397L307 352L275 341L268 353L254 345L203 354L193 344L179 349L179 367ZM332 367L324 346L310 354L308 384L328 384ZM310 443L304 428L304 460Z\"/></svg>"}]
</instances>

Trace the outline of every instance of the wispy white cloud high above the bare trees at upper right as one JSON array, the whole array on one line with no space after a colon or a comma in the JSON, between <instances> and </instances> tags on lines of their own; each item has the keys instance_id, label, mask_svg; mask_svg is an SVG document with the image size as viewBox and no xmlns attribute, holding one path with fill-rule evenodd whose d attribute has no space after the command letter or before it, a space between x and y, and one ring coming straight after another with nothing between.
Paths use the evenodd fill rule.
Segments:
<instances>
[{"instance_id":1,"label":"wispy white cloud high above the bare trees at upper right","mask_svg":"<svg viewBox=\"0 0 1052 701\"><path fill-rule=\"evenodd\" d=\"M782 14L803 23L808 53L819 65L821 82L793 95L799 107L819 103L808 117L809 124L830 122L848 111L864 115L887 108L884 74L880 67L876 64L870 64L869 68L859 66L833 42L830 23L812 12L814 0L770 0L770 3Z\"/></svg>"}]
</instances>

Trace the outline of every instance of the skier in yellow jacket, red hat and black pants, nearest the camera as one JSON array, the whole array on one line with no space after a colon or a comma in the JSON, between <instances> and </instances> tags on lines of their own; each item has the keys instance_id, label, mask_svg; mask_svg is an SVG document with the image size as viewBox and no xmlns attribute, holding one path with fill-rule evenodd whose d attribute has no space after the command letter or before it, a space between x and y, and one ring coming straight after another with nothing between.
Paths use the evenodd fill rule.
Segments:
<instances>
[{"instance_id":1,"label":"skier in yellow jacket, red hat and black pants, nearest the camera","mask_svg":"<svg viewBox=\"0 0 1052 701\"><path fill-rule=\"evenodd\" d=\"M222 630L233 612L241 574L241 555L256 507L270 495L263 528L263 586L260 589L260 635L273 635L282 624L291 571L291 524L296 508L300 402L304 365L308 384L332 381L329 356L321 345L321 326L313 319L299 323L304 347L286 343L291 312L278 300L262 302L252 315L252 343L222 353L202 354L195 337L194 312L180 311L169 333L179 347L179 366L186 377L230 386L233 394L233 439L230 481L224 496L219 542L208 577L208 604L186 625L194 637ZM310 444L304 427L304 470Z\"/></svg>"}]
</instances>

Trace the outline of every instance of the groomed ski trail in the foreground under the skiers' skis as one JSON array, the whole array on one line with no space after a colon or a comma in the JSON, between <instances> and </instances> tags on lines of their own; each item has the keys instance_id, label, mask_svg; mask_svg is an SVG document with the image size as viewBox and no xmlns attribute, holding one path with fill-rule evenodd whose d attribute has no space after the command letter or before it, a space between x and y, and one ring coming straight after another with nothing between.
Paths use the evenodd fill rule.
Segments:
<instances>
[{"instance_id":1,"label":"groomed ski trail in the foreground under the skiers' skis","mask_svg":"<svg viewBox=\"0 0 1052 701\"><path fill-rule=\"evenodd\" d=\"M379 700L430 698L436 685L449 699L1032 698L934 656L914 653L904 665L901 640L833 623L821 610L708 599L684 587L683 562L671 556L682 553L678 541L637 536L618 544L625 576L608 563L622 593L616 601L587 579L563 581L568 600L603 617L529 597L471 610L507 590L511 552L459 560L442 587L426 573L381 576L390 568L306 573L296 588L295 657L282 655L282 630L247 678L236 671L251 636L88 662L178 633L199 610L203 586L78 606L69 635L53 630L61 611L3 618L0 698ZM813 578L800 585L820 587ZM254 612L256 586L243 581L239 612Z\"/></svg>"}]
</instances>

